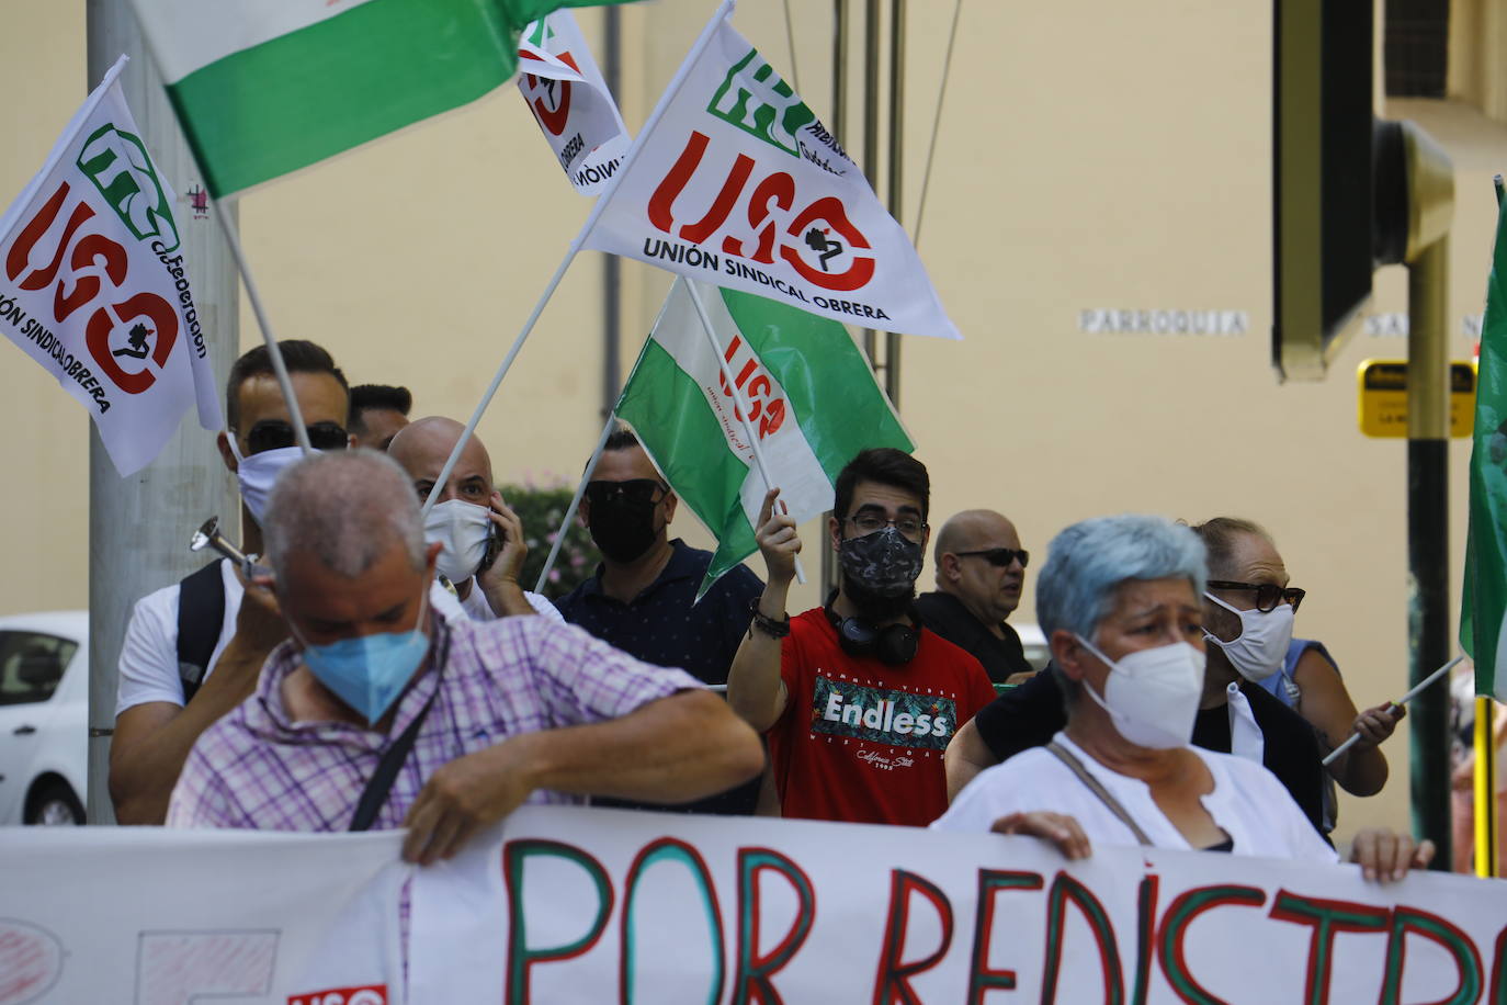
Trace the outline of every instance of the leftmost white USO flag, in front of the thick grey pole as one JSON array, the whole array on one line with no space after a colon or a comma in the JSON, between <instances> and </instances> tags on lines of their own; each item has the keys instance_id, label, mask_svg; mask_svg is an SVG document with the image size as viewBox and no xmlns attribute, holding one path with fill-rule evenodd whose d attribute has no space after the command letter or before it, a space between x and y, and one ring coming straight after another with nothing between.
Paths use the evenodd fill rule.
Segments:
<instances>
[{"instance_id":1,"label":"leftmost white USO flag, in front of the thick grey pole","mask_svg":"<svg viewBox=\"0 0 1507 1005\"><path fill-rule=\"evenodd\" d=\"M220 404L173 193L125 105L122 56L0 217L0 333L77 399L122 476Z\"/></svg>"}]
</instances>

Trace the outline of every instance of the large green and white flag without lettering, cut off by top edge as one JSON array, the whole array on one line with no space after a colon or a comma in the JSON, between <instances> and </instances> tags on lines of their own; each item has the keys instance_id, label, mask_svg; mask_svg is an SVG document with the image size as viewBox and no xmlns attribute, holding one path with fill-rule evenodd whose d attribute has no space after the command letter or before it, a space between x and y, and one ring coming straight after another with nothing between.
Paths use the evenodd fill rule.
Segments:
<instances>
[{"instance_id":1,"label":"large green and white flag without lettering, cut off by top edge","mask_svg":"<svg viewBox=\"0 0 1507 1005\"><path fill-rule=\"evenodd\" d=\"M134 0L214 196L481 98L530 21L624 2Z\"/></svg>"}]
</instances>

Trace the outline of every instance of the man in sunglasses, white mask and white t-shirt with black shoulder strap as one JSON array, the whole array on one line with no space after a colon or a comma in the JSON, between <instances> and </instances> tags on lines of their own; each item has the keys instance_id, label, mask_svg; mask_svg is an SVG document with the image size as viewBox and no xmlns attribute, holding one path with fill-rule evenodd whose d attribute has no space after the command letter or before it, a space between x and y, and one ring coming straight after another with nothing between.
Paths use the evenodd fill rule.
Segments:
<instances>
[{"instance_id":1,"label":"man in sunglasses, white mask and white t-shirt with black shoulder strap","mask_svg":"<svg viewBox=\"0 0 1507 1005\"><path fill-rule=\"evenodd\" d=\"M345 375L313 342L289 339L279 350L310 443L345 449L351 441ZM228 431L217 446L241 490L241 545L259 553L273 482L301 455L267 347L231 368L225 413ZM234 538L235 521L226 518L223 526ZM252 693L267 654L286 637L271 594L247 588L228 559L137 601L121 646L110 744L110 796L122 824L163 823L188 749Z\"/></svg>"}]
</instances>

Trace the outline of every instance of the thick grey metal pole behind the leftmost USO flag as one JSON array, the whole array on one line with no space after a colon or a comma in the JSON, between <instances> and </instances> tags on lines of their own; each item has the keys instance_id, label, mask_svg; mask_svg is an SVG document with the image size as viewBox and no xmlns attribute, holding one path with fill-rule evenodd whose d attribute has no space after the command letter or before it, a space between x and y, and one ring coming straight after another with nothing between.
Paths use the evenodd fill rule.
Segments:
<instances>
[{"instance_id":1,"label":"thick grey metal pole behind the leftmost USO flag","mask_svg":"<svg viewBox=\"0 0 1507 1005\"><path fill-rule=\"evenodd\" d=\"M131 56L121 87L166 181L178 193L173 218L194 285L194 304L223 383L240 348L235 264L208 212L193 209L203 190L188 145L167 104L157 66L148 57L127 0L87 0L87 84L121 53ZM87 90L87 89L86 89ZM80 96L84 92L80 92ZM229 212L235 212L229 208ZM116 661L131 609L202 564L188 553L188 533L212 514L240 512L214 435L185 420L161 455L122 479L99 434L89 425L89 823L115 823L105 788L115 728Z\"/></svg>"}]
</instances>

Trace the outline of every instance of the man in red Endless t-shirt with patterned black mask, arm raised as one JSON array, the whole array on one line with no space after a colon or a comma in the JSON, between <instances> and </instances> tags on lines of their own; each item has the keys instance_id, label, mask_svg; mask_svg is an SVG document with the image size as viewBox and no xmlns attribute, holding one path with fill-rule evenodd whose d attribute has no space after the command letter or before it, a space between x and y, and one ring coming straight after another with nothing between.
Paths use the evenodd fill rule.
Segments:
<instances>
[{"instance_id":1,"label":"man in red Endless t-shirt with patterned black mask, arm raised","mask_svg":"<svg viewBox=\"0 0 1507 1005\"><path fill-rule=\"evenodd\" d=\"M785 817L925 826L946 811L942 753L995 698L977 658L912 615L930 527L927 469L862 451L833 485L830 545L842 576L824 607L785 615L800 538L764 499L769 568L728 702L767 734Z\"/></svg>"}]
</instances>

